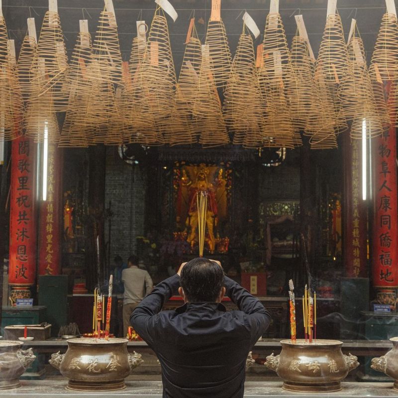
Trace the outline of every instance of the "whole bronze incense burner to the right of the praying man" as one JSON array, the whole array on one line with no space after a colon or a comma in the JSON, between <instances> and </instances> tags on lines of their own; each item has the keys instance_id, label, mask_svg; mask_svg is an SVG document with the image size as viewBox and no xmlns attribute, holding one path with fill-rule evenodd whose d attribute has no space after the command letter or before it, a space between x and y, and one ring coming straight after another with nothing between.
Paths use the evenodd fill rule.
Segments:
<instances>
[{"instance_id":1,"label":"whole bronze incense burner to the right of the praying man","mask_svg":"<svg viewBox=\"0 0 398 398\"><path fill-rule=\"evenodd\" d=\"M284 380L282 388L300 393L341 390L340 382L359 363L354 355L341 352L338 340L282 340L280 355L269 355L265 365Z\"/></svg>"}]
</instances>

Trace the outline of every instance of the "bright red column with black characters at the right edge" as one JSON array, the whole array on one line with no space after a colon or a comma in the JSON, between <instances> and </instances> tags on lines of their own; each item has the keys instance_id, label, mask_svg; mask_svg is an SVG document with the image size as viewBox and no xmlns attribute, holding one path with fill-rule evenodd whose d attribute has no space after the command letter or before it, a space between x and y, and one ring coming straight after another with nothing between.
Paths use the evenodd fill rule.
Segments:
<instances>
[{"instance_id":1,"label":"bright red column with black characters at the right edge","mask_svg":"<svg viewBox=\"0 0 398 398\"><path fill-rule=\"evenodd\" d=\"M391 84L387 83L387 94ZM391 93L390 93L391 95ZM374 287L398 286L397 136L391 127L374 139Z\"/></svg>"}]
</instances>

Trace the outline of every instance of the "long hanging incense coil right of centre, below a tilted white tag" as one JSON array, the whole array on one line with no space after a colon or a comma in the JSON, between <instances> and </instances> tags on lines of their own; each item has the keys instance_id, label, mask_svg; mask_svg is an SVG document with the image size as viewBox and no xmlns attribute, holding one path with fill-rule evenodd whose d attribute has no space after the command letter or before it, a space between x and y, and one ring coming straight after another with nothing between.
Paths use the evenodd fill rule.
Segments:
<instances>
[{"instance_id":1,"label":"long hanging incense coil right of centre, below a tilted white tag","mask_svg":"<svg viewBox=\"0 0 398 398\"><path fill-rule=\"evenodd\" d=\"M245 24L224 92L223 115L234 134L234 144L248 148L264 145L263 107L253 40Z\"/></svg>"}]
</instances>

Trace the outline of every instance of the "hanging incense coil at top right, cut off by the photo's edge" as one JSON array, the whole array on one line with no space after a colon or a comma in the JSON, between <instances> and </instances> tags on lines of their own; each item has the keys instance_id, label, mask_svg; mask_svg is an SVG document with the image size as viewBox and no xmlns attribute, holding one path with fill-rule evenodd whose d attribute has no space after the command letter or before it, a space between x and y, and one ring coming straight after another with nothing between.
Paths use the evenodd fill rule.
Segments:
<instances>
[{"instance_id":1,"label":"hanging incense coil at top right, cut off by the photo's edge","mask_svg":"<svg viewBox=\"0 0 398 398\"><path fill-rule=\"evenodd\" d=\"M369 73L379 83L398 78L398 24L394 14L383 15Z\"/></svg>"}]
</instances>

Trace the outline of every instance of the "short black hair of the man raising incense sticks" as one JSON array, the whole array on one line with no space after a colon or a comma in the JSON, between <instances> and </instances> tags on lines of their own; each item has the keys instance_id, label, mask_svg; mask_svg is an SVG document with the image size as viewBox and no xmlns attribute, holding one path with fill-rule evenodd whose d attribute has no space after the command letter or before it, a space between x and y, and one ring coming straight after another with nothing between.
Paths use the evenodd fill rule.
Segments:
<instances>
[{"instance_id":1,"label":"short black hair of the man raising incense sticks","mask_svg":"<svg viewBox=\"0 0 398 398\"><path fill-rule=\"evenodd\" d=\"M215 301L223 282L222 268L203 257L188 261L181 271L180 285L190 302Z\"/></svg>"}]
</instances>

